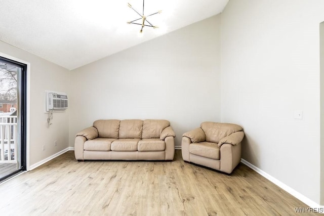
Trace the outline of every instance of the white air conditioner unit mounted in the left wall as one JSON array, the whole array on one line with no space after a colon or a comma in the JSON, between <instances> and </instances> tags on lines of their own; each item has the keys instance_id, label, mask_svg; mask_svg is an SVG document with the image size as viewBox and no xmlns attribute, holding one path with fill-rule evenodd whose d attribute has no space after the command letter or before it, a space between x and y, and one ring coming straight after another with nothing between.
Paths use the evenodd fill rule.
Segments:
<instances>
[{"instance_id":1,"label":"white air conditioner unit mounted in the left wall","mask_svg":"<svg viewBox=\"0 0 324 216\"><path fill-rule=\"evenodd\" d=\"M68 98L65 93L46 91L46 111L64 111L68 108Z\"/></svg>"}]
</instances>

